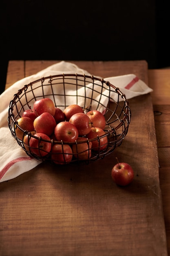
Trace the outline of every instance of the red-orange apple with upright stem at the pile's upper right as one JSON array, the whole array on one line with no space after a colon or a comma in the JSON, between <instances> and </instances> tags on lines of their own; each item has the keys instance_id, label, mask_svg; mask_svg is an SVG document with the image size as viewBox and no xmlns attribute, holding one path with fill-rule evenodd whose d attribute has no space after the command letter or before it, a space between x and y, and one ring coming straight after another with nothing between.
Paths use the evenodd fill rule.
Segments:
<instances>
[{"instance_id":1,"label":"red-orange apple with upright stem at the pile's upper right","mask_svg":"<svg viewBox=\"0 0 170 256\"><path fill-rule=\"evenodd\" d=\"M94 127L99 127L104 130L106 126L106 120L104 115L100 111L90 110L86 113L86 115L88 115Z\"/></svg>"}]
</instances>

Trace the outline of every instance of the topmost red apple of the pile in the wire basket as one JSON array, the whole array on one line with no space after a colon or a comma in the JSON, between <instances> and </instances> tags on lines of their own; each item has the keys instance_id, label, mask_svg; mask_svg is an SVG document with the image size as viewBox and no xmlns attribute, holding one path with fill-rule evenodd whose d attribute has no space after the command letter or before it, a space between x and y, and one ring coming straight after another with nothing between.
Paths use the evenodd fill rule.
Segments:
<instances>
[{"instance_id":1,"label":"topmost red apple of the pile in the wire basket","mask_svg":"<svg viewBox=\"0 0 170 256\"><path fill-rule=\"evenodd\" d=\"M55 105L49 98L39 99L34 102L33 110L40 116L44 112L50 113L52 116L55 115Z\"/></svg>"}]
</instances>

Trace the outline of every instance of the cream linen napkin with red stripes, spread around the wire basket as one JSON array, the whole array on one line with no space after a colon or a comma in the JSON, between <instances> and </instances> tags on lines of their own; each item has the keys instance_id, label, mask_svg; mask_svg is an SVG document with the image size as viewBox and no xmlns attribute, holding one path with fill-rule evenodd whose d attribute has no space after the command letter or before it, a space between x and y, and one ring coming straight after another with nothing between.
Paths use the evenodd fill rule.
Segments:
<instances>
[{"instance_id":1,"label":"cream linen napkin with red stripes, spread around the wire basket","mask_svg":"<svg viewBox=\"0 0 170 256\"><path fill-rule=\"evenodd\" d=\"M77 73L91 76L90 73L80 69L77 65L61 61L60 63L47 67L37 74L17 81L0 95L0 182L13 179L26 171L30 171L41 163L39 160L29 157L11 135L7 122L11 99L13 99L14 94L18 92L19 89L23 88L25 84L41 79L43 76L53 76L63 73ZM152 92L152 89L135 74L107 77L104 78L104 80L109 81L111 84L115 85L115 87L119 87L120 91L126 95L126 99Z\"/></svg>"}]
</instances>

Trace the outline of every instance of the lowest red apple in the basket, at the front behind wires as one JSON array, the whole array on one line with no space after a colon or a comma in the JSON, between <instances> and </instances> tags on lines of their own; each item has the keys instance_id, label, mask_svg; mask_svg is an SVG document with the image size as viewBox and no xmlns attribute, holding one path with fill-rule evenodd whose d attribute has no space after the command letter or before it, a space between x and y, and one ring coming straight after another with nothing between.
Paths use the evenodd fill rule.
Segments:
<instances>
[{"instance_id":1,"label":"lowest red apple in the basket, at the front behind wires","mask_svg":"<svg viewBox=\"0 0 170 256\"><path fill-rule=\"evenodd\" d=\"M71 162L73 152L67 144L54 144L52 147L51 159L55 164L68 164Z\"/></svg>"}]
</instances>

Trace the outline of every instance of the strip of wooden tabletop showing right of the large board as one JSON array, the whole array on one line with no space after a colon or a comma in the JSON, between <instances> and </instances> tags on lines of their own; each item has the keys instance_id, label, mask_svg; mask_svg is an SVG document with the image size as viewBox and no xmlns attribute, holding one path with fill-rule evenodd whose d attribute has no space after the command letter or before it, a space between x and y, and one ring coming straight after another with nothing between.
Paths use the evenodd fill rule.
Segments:
<instances>
[{"instance_id":1,"label":"strip of wooden tabletop showing right of the large board","mask_svg":"<svg viewBox=\"0 0 170 256\"><path fill-rule=\"evenodd\" d=\"M159 179L162 191L168 255L170 255L170 69L148 70L149 86L155 111L155 130L159 157Z\"/></svg>"}]
</instances>

